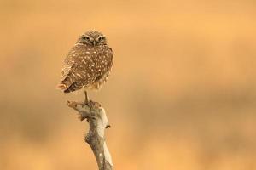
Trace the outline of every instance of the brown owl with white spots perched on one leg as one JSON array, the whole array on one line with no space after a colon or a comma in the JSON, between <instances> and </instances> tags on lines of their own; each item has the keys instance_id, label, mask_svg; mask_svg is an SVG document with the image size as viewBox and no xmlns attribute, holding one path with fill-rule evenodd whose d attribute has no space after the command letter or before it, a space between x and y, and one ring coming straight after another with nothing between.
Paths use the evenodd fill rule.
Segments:
<instances>
[{"instance_id":1,"label":"brown owl with white spots perched on one leg","mask_svg":"<svg viewBox=\"0 0 256 170\"><path fill-rule=\"evenodd\" d=\"M112 49L108 47L106 37L98 31L87 31L67 54L57 88L64 93L84 88L85 102L88 102L86 90L101 88L112 64Z\"/></svg>"}]
</instances>

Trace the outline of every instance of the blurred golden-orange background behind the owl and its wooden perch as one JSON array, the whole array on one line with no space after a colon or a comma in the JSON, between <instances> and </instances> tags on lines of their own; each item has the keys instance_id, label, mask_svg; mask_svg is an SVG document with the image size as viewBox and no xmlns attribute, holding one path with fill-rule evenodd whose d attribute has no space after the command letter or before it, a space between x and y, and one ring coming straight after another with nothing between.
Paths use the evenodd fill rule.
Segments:
<instances>
[{"instance_id":1,"label":"blurred golden-orange background behind the owl and its wooden perch","mask_svg":"<svg viewBox=\"0 0 256 170\"><path fill-rule=\"evenodd\" d=\"M256 3L0 1L0 169L96 169L55 90L84 31L108 36L114 65L90 98L112 128L115 169L256 169Z\"/></svg>"}]
</instances>

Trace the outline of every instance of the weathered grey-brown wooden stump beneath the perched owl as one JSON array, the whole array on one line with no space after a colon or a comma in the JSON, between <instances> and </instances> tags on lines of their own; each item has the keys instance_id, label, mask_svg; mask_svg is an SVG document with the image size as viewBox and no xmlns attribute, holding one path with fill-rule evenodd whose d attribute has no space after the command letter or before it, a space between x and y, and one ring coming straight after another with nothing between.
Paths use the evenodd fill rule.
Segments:
<instances>
[{"instance_id":1,"label":"weathered grey-brown wooden stump beneath the perched owl","mask_svg":"<svg viewBox=\"0 0 256 170\"><path fill-rule=\"evenodd\" d=\"M99 170L112 170L113 163L105 141L105 128L110 127L102 105L90 100L88 104L67 101L67 105L79 112L79 119L87 119L90 125L85 142L90 145L96 157Z\"/></svg>"}]
</instances>

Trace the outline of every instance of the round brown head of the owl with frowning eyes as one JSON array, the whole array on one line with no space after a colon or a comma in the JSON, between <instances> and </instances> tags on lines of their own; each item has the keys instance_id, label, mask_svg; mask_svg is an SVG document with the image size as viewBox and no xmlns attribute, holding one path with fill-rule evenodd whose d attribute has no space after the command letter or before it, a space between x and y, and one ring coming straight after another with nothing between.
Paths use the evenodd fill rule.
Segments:
<instances>
[{"instance_id":1,"label":"round brown head of the owl with frowning eyes","mask_svg":"<svg viewBox=\"0 0 256 170\"><path fill-rule=\"evenodd\" d=\"M99 31L87 31L78 40L79 43L84 43L91 46L107 44L106 37Z\"/></svg>"}]
</instances>

